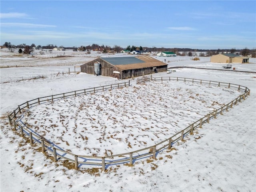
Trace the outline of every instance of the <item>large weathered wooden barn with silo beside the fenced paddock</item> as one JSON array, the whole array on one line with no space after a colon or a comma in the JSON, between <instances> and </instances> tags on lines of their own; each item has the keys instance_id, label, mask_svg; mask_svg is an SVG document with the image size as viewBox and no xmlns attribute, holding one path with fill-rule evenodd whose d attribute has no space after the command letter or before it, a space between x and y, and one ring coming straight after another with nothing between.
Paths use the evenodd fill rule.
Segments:
<instances>
[{"instance_id":1,"label":"large weathered wooden barn with silo beside the fenced paddock","mask_svg":"<svg viewBox=\"0 0 256 192\"><path fill-rule=\"evenodd\" d=\"M81 65L81 72L120 79L167 70L168 64L150 56L96 58Z\"/></svg>"}]
</instances>

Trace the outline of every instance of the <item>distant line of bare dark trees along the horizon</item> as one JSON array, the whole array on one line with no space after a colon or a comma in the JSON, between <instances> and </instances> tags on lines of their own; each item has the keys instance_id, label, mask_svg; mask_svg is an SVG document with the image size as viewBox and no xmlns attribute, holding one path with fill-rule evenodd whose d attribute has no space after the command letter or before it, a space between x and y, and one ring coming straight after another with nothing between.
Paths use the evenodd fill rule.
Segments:
<instances>
[{"instance_id":1,"label":"distant line of bare dark trees along the horizon","mask_svg":"<svg viewBox=\"0 0 256 192\"><path fill-rule=\"evenodd\" d=\"M25 51L31 52L34 47L38 49L53 49L55 47L58 47L53 44L47 44L46 46L41 46L41 45L36 46L35 44L31 44L31 45L19 44L15 46L15 45L12 45L10 42L5 42L2 46L6 46L7 48L9 48L10 51L12 51L14 48L20 48L20 49L24 48L24 52ZM114 51L118 53L122 50L129 50L130 52L134 50L140 50L140 51L147 50L148 52L174 52L179 56L212 56L212 55L228 52L228 53L234 53L242 56L247 56L251 54L252 57L256 57L256 48L253 48L253 49L244 48L242 50L236 49L236 48L209 50L209 49L192 49L192 48L164 48L164 47L156 48L155 46L150 48L150 47L142 47L142 46L134 46L134 45L132 46L128 45L126 48L122 48L118 45L114 45L111 47L104 44L102 44L101 46L98 44L92 44L87 46L80 46L79 48L77 48L76 46L73 46L73 47L59 46L59 47L62 47L65 49L72 49L74 51L96 50L103 53L108 51ZM30 49L30 51L28 51L28 49ZM196 55L196 52L201 52L201 53L199 55Z\"/></svg>"}]
</instances>

